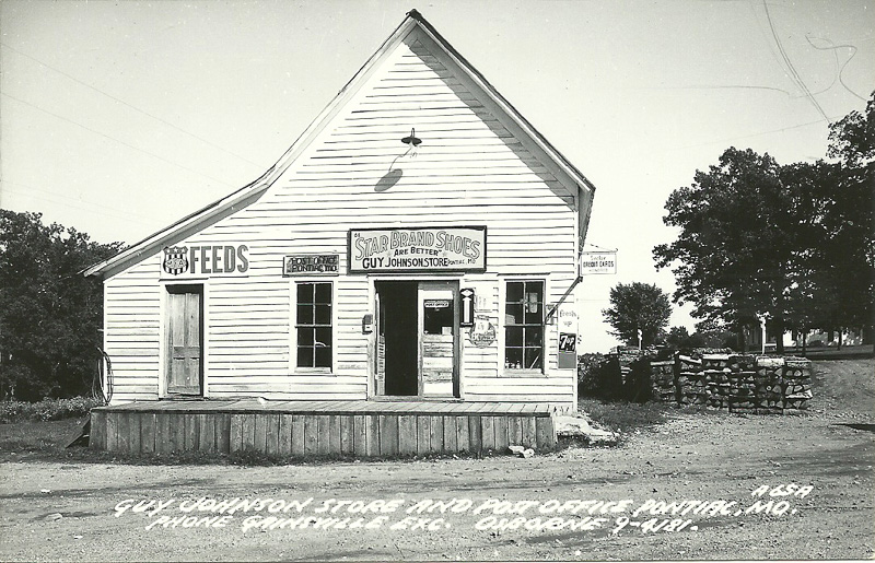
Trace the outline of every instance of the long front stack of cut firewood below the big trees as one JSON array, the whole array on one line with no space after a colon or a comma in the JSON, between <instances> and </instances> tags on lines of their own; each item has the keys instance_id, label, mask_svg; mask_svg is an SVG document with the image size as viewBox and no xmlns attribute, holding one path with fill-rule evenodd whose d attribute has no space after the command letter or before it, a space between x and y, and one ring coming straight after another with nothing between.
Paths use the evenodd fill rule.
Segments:
<instances>
[{"instance_id":1,"label":"long front stack of cut firewood below the big trees","mask_svg":"<svg viewBox=\"0 0 875 563\"><path fill-rule=\"evenodd\" d=\"M812 398L810 362L747 354L677 354L651 361L651 396L739 413L805 409Z\"/></svg>"}]
</instances>

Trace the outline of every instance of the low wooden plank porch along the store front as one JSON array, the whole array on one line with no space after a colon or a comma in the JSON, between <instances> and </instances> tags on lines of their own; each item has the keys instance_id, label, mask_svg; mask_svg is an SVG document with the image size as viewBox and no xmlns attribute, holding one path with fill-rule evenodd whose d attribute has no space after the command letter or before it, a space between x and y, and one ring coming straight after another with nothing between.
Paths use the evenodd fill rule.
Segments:
<instances>
[{"instance_id":1,"label":"low wooden plank porch along the store front","mask_svg":"<svg viewBox=\"0 0 875 563\"><path fill-rule=\"evenodd\" d=\"M392 457L556 447L542 403L141 401L91 411L90 446L128 454L246 449L288 457Z\"/></svg>"}]
</instances>

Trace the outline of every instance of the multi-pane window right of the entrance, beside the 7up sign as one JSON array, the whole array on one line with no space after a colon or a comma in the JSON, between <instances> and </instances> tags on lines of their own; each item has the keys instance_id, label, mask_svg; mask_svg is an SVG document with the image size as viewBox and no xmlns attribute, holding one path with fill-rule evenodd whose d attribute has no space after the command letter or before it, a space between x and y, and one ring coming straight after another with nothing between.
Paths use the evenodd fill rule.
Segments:
<instances>
[{"instance_id":1,"label":"multi-pane window right of the entrance, beside the 7up sign","mask_svg":"<svg viewBox=\"0 0 875 563\"><path fill-rule=\"evenodd\" d=\"M508 282L504 367L544 370L544 282Z\"/></svg>"}]
</instances>

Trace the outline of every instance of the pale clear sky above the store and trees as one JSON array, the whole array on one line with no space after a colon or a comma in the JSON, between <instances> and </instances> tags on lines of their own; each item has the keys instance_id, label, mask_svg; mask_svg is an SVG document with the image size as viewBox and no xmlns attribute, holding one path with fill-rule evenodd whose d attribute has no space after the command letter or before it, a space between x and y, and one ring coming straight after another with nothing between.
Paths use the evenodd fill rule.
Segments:
<instances>
[{"instance_id":1,"label":"pale clear sky above the store and trees","mask_svg":"<svg viewBox=\"0 0 875 563\"><path fill-rule=\"evenodd\" d=\"M416 8L596 186L618 271L579 286L580 350L606 352L610 288L675 289L673 190L728 146L822 159L865 107L874 3L3 0L0 207L136 243L260 176Z\"/></svg>"}]
</instances>

